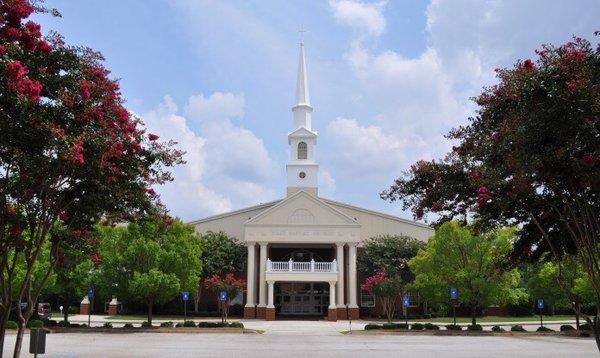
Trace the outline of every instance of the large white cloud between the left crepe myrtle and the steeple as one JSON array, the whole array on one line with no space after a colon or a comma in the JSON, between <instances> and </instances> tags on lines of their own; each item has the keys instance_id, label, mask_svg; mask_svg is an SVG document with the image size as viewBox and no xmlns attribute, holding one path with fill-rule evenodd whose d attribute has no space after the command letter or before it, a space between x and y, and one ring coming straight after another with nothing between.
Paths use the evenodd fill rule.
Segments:
<instances>
[{"instance_id":1,"label":"large white cloud between the left crepe myrtle and the steeple","mask_svg":"<svg viewBox=\"0 0 600 358\"><path fill-rule=\"evenodd\" d=\"M174 169L175 180L158 188L172 212L190 220L275 198L277 164L261 139L232 123L244 114L243 95L194 95L184 113L179 115L167 96L143 115L150 131L177 141L186 152L187 163ZM191 129L195 124L199 134Z\"/></svg>"}]
</instances>

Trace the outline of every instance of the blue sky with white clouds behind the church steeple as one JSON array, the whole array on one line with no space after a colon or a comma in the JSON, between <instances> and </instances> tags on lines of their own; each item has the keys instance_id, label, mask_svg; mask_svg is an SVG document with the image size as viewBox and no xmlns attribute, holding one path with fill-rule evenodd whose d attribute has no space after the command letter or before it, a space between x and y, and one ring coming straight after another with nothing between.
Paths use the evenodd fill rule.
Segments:
<instances>
[{"instance_id":1,"label":"blue sky with white clouds behind the church steeple","mask_svg":"<svg viewBox=\"0 0 600 358\"><path fill-rule=\"evenodd\" d=\"M320 194L410 218L379 199L411 163L443 155L443 135L497 67L542 43L600 30L600 2L46 0L38 15L106 57L128 108L187 151L158 188L184 220L285 196L304 34Z\"/></svg>"}]
</instances>

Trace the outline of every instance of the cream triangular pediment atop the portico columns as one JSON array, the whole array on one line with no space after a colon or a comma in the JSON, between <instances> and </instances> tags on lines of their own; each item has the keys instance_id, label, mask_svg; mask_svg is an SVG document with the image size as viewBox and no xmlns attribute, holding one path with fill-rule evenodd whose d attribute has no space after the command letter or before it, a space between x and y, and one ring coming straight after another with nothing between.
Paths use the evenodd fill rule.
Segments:
<instances>
[{"instance_id":1,"label":"cream triangular pediment atop the portico columns","mask_svg":"<svg viewBox=\"0 0 600 358\"><path fill-rule=\"evenodd\" d=\"M246 225L360 227L350 216L302 190L246 221Z\"/></svg>"}]
</instances>

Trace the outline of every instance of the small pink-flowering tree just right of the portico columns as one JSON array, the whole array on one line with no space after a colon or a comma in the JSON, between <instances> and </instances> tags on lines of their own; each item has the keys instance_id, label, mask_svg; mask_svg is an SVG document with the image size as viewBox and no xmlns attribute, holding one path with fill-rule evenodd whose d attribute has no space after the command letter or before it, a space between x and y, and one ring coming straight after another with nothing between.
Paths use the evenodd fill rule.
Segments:
<instances>
[{"instance_id":1,"label":"small pink-flowering tree just right of the portico columns","mask_svg":"<svg viewBox=\"0 0 600 358\"><path fill-rule=\"evenodd\" d=\"M392 323L392 318L394 318L396 312L396 299L402 293L402 280L400 277L398 275L388 276L385 272L377 272L375 275L367 277L360 288L375 295L381 301L388 323Z\"/></svg>"}]
</instances>

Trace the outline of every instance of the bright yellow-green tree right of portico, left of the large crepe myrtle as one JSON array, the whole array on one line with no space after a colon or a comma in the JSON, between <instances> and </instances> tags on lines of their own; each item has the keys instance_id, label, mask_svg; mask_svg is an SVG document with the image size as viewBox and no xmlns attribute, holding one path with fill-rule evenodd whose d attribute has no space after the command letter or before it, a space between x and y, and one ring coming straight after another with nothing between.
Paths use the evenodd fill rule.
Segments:
<instances>
[{"instance_id":1,"label":"bright yellow-green tree right of portico, left of the large crepe myrtle","mask_svg":"<svg viewBox=\"0 0 600 358\"><path fill-rule=\"evenodd\" d=\"M514 230L492 230L474 235L470 227L456 221L441 225L427 246L408 262L415 274L412 288L432 300L448 298L450 287L459 292L458 301L471 307L475 325L477 308L513 303L525 292L517 288L520 275L505 269Z\"/></svg>"}]
</instances>

